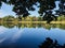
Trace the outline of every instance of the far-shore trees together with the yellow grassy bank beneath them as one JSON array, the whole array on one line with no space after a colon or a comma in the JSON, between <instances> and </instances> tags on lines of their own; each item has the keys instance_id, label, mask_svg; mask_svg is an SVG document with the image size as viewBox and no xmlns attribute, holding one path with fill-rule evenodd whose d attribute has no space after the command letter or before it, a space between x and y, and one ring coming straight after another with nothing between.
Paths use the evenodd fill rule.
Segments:
<instances>
[{"instance_id":1,"label":"far-shore trees together with the yellow grassy bank beneath them","mask_svg":"<svg viewBox=\"0 0 65 48\"><path fill-rule=\"evenodd\" d=\"M51 21L51 23L65 23L65 16L56 16L57 20ZM27 17L14 17L12 15L4 16L0 18L0 22L22 22L22 23L46 23L47 21L43 19L42 16L27 16Z\"/></svg>"}]
</instances>

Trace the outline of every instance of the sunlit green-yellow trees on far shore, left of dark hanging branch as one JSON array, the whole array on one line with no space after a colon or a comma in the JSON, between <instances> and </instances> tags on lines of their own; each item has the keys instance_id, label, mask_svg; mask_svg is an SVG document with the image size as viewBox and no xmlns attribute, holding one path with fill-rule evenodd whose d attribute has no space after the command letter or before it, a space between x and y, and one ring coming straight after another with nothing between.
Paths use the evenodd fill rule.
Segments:
<instances>
[{"instance_id":1,"label":"sunlit green-yellow trees on far shore, left of dark hanging branch","mask_svg":"<svg viewBox=\"0 0 65 48\"><path fill-rule=\"evenodd\" d=\"M0 20L2 21L42 21L42 17L39 16L39 17L36 17L36 16L27 16L27 17L14 17L14 16L5 16L3 18L0 18Z\"/></svg>"}]
</instances>

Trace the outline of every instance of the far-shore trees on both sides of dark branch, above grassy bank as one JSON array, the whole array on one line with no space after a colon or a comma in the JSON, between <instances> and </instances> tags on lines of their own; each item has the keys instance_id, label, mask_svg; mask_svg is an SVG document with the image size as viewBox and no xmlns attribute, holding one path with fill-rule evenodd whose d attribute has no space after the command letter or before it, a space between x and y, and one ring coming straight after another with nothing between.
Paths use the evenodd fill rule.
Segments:
<instances>
[{"instance_id":1,"label":"far-shore trees on both sides of dark branch, above grassy bank","mask_svg":"<svg viewBox=\"0 0 65 48\"><path fill-rule=\"evenodd\" d=\"M57 21L64 21L65 20L65 16L56 16L57 17ZM14 17L14 16L5 16L3 18L0 18L0 21L46 21L43 20L42 16L27 16L27 17Z\"/></svg>"}]
</instances>

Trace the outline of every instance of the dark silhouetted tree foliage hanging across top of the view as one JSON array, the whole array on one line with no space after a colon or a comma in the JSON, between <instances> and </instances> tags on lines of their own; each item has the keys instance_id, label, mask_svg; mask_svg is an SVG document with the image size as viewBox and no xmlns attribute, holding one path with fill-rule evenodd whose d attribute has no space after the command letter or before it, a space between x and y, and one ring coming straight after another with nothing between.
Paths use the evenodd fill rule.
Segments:
<instances>
[{"instance_id":1,"label":"dark silhouetted tree foliage hanging across top of the view","mask_svg":"<svg viewBox=\"0 0 65 48\"><path fill-rule=\"evenodd\" d=\"M49 15L47 13L47 11L51 11L55 7L55 1L56 0L0 0L0 6L2 5L2 2L6 3L6 4L12 4L13 6L13 12L16 13L16 15L22 15L23 17L26 17L29 15L28 11L35 11L36 7L34 7L34 5L39 7L38 13L43 16L44 14L48 15L47 17L49 17L49 19L51 19L51 15ZM64 14L65 15L65 0L60 0L61 4L60 4L60 14ZM38 5L39 3L39 5ZM61 6L62 5L62 6ZM64 9L63 9L64 7ZM61 12L62 10L62 12ZM49 20L47 19L47 20ZM54 18L55 19L55 18ZM50 20L51 21L51 20Z\"/></svg>"}]
</instances>

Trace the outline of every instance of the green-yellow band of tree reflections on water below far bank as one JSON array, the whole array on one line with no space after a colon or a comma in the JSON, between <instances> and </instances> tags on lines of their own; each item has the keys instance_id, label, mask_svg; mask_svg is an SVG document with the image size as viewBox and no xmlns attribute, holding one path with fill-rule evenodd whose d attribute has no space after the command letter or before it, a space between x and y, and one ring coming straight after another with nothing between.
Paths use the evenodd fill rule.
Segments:
<instances>
[{"instance_id":1,"label":"green-yellow band of tree reflections on water below far bank","mask_svg":"<svg viewBox=\"0 0 65 48\"><path fill-rule=\"evenodd\" d=\"M17 28L44 28L44 29L48 29L50 30L51 28L58 28L58 29L64 29L65 30L65 25L62 25L62 23L14 23L14 22L3 22L3 23L0 23L0 26L3 26L5 28L14 28L15 26Z\"/></svg>"}]
</instances>

